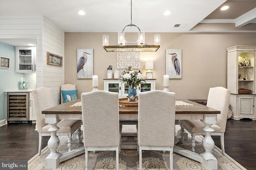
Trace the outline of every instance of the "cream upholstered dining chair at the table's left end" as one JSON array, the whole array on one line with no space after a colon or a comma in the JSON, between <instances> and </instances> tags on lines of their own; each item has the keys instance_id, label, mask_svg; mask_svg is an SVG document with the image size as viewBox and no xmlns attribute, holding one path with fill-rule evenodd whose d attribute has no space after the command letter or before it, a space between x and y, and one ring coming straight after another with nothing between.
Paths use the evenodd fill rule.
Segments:
<instances>
[{"instance_id":1,"label":"cream upholstered dining chair at the table's left end","mask_svg":"<svg viewBox=\"0 0 256 170\"><path fill-rule=\"evenodd\" d=\"M51 136L48 129L51 127L45 123L45 115L42 111L54 107L52 90L47 87L39 87L32 90L34 96L34 107L36 111L36 125L39 135L38 155L42 150L42 136ZM72 150L72 134L81 127L81 120L62 120L57 125L57 136L68 136L68 150ZM80 136L78 137L80 138Z\"/></svg>"}]
</instances>

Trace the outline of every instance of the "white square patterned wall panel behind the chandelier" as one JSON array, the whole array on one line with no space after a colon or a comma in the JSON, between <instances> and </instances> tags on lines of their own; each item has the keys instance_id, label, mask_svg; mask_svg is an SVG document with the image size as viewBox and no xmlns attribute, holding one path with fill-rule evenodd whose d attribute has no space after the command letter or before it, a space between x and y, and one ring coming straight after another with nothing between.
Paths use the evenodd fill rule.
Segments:
<instances>
[{"instance_id":1,"label":"white square patterned wall panel behind the chandelier","mask_svg":"<svg viewBox=\"0 0 256 170\"><path fill-rule=\"evenodd\" d=\"M117 68L126 69L129 65L131 65L133 69L140 69L140 52L117 52Z\"/></svg>"}]
</instances>

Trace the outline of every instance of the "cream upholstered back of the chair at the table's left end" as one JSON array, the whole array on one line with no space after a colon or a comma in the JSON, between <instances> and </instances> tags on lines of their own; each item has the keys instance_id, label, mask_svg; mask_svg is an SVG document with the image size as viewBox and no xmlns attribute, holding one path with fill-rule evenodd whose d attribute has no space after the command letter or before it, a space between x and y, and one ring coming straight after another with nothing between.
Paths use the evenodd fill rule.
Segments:
<instances>
[{"instance_id":1,"label":"cream upholstered back of the chair at the table's left end","mask_svg":"<svg viewBox=\"0 0 256 170\"><path fill-rule=\"evenodd\" d=\"M47 125L45 123L45 115L42 111L54 107L54 99L52 89L47 87L39 87L32 90L34 96L34 107L36 111L36 125L38 133L42 133L42 128Z\"/></svg>"}]
</instances>

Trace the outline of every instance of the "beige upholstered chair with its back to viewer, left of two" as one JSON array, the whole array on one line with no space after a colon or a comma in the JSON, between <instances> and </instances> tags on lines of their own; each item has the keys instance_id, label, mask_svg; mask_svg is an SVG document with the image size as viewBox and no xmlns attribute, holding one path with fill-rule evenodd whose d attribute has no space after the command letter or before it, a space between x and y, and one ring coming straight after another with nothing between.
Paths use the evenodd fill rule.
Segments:
<instances>
[{"instance_id":1,"label":"beige upholstered chair with its back to viewer, left of two","mask_svg":"<svg viewBox=\"0 0 256 170\"><path fill-rule=\"evenodd\" d=\"M82 93L81 101L85 169L88 169L88 151L116 150L116 170L118 170L122 132L122 125L119 125L118 93L109 91Z\"/></svg>"}]
</instances>

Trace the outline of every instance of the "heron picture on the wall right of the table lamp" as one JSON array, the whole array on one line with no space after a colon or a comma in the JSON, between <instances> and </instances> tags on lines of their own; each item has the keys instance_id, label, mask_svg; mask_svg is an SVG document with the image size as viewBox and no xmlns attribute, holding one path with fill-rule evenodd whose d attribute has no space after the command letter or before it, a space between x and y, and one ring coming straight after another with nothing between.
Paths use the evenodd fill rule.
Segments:
<instances>
[{"instance_id":1,"label":"heron picture on the wall right of the table lamp","mask_svg":"<svg viewBox=\"0 0 256 170\"><path fill-rule=\"evenodd\" d=\"M182 50L165 49L165 74L169 79L182 78Z\"/></svg>"}]
</instances>

